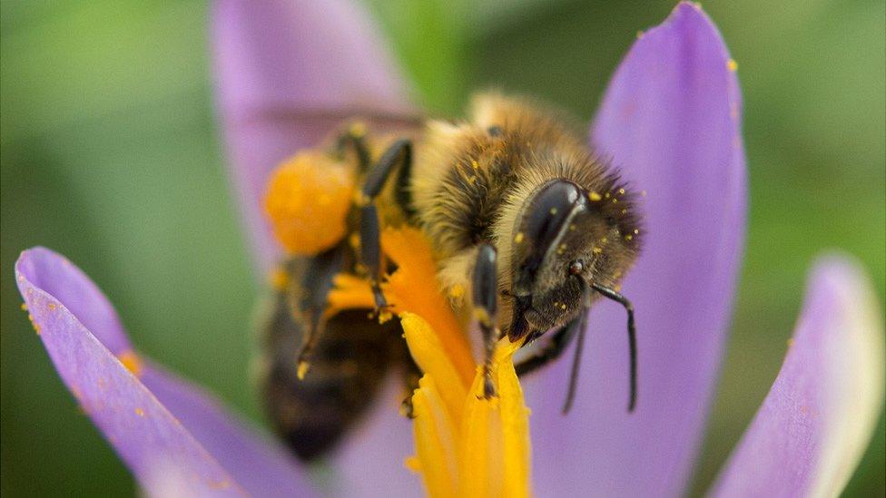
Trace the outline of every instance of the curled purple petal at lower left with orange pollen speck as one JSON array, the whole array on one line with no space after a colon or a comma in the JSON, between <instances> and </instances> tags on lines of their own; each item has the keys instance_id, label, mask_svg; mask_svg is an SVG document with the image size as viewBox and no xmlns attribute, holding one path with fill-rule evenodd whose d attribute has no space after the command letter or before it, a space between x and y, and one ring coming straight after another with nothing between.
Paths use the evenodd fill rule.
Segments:
<instances>
[{"instance_id":1,"label":"curled purple petal at lower left with orange pollen speck","mask_svg":"<svg viewBox=\"0 0 886 498\"><path fill-rule=\"evenodd\" d=\"M146 362L127 369L122 358L133 352L119 318L67 259L29 249L15 276L64 384L149 493L310 492L287 454L257 440L210 396Z\"/></svg>"}]
</instances>

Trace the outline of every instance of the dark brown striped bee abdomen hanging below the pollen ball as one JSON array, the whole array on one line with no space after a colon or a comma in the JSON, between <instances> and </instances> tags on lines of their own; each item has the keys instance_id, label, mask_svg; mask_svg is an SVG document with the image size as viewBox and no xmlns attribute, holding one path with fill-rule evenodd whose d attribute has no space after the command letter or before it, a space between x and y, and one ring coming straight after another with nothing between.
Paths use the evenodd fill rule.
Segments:
<instances>
[{"instance_id":1,"label":"dark brown striped bee abdomen hanging below the pollen ball","mask_svg":"<svg viewBox=\"0 0 886 498\"><path fill-rule=\"evenodd\" d=\"M296 356L305 325L292 316L284 295L276 297L265 325L261 391L271 425L301 460L328 454L379 392L399 323L379 325L367 314L359 309L331 317L300 380Z\"/></svg>"}]
</instances>

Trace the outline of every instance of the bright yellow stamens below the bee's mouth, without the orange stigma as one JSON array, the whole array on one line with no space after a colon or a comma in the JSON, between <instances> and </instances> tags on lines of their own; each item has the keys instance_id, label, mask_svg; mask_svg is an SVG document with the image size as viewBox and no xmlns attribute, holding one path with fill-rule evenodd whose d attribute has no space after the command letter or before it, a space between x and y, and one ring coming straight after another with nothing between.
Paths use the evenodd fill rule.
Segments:
<instances>
[{"instance_id":1,"label":"bright yellow stamens below the bee's mouth, without the orange stigma","mask_svg":"<svg viewBox=\"0 0 886 498\"><path fill-rule=\"evenodd\" d=\"M492 365L498 397L483 397L477 367L467 394L445 349L420 317L404 314L409 351L425 376L412 396L418 468L430 496L529 494L529 411L512 356L519 343L499 341Z\"/></svg>"}]
</instances>

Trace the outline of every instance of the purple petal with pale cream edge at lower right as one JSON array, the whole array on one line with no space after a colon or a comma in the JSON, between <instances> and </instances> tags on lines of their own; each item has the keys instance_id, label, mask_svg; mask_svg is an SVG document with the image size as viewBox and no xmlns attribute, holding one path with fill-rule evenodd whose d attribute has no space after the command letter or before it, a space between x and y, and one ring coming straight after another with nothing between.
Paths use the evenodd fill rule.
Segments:
<instances>
[{"instance_id":1,"label":"purple petal with pale cream edge at lower right","mask_svg":"<svg viewBox=\"0 0 886 498\"><path fill-rule=\"evenodd\" d=\"M852 261L812 271L782 370L715 486L717 496L837 496L883 403L881 310Z\"/></svg>"}]
</instances>

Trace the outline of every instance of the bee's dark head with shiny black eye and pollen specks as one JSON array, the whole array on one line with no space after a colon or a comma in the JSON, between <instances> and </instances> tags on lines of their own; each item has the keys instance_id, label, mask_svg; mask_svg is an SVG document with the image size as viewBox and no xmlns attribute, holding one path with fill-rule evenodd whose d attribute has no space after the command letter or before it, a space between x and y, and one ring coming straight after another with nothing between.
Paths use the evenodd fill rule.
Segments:
<instances>
[{"instance_id":1,"label":"bee's dark head with shiny black eye and pollen specks","mask_svg":"<svg viewBox=\"0 0 886 498\"><path fill-rule=\"evenodd\" d=\"M565 324L588 306L591 285L615 287L633 264L640 242L635 202L607 183L597 192L547 181L524 201L508 269L512 341Z\"/></svg>"}]
</instances>

